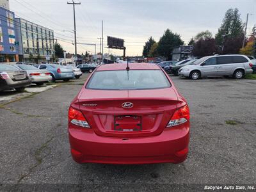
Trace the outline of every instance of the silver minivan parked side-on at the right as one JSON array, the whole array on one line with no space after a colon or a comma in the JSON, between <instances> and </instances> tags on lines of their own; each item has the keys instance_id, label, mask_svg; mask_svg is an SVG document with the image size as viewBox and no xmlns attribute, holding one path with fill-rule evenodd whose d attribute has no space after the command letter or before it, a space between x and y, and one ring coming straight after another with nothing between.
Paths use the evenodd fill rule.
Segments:
<instances>
[{"instance_id":1,"label":"silver minivan parked side-on at the right","mask_svg":"<svg viewBox=\"0 0 256 192\"><path fill-rule=\"evenodd\" d=\"M179 76L199 79L200 77L233 76L242 79L244 74L252 74L252 61L244 55L206 56L179 69Z\"/></svg>"}]
</instances>

